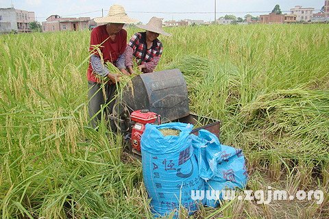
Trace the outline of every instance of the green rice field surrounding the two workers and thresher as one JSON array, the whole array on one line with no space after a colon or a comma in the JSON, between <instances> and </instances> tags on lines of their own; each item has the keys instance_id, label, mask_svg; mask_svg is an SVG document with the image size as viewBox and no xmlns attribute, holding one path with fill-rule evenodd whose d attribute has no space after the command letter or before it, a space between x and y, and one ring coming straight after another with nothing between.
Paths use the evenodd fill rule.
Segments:
<instances>
[{"instance_id":1,"label":"green rice field surrounding the two workers and thresher","mask_svg":"<svg viewBox=\"0 0 329 219\"><path fill-rule=\"evenodd\" d=\"M221 143L247 159L247 189L324 192L321 204L234 199L180 218L329 218L329 25L166 31L156 70L180 68L190 110L221 120ZM152 217L141 162L103 120L88 126L89 40L0 36L2 218Z\"/></svg>"}]
</instances>

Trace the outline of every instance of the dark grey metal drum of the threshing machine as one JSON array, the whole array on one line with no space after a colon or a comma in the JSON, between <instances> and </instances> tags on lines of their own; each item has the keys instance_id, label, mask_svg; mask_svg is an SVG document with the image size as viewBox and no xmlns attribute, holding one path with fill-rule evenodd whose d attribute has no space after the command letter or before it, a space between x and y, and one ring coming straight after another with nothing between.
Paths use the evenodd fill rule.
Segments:
<instances>
[{"instance_id":1,"label":"dark grey metal drum of the threshing machine","mask_svg":"<svg viewBox=\"0 0 329 219\"><path fill-rule=\"evenodd\" d=\"M145 73L132 79L117 103L130 111L149 110L160 114L162 123L168 123L190 114L187 86L179 69Z\"/></svg>"}]
</instances>

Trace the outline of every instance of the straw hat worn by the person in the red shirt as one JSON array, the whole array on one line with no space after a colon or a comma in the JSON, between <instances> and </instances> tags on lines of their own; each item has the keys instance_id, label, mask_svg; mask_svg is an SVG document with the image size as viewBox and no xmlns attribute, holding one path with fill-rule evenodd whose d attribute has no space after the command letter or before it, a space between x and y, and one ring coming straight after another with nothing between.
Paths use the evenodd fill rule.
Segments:
<instances>
[{"instance_id":1,"label":"straw hat worn by the person in the red shirt","mask_svg":"<svg viewBox=\"0 0 329 219\"><path fill-rule=\"evenodd\" d=\"M95 18L97 23L136 23L137 20L125 14L125 9L121 5L112 5L108 11L108 16Z\"/></svg>"}]
</instances>

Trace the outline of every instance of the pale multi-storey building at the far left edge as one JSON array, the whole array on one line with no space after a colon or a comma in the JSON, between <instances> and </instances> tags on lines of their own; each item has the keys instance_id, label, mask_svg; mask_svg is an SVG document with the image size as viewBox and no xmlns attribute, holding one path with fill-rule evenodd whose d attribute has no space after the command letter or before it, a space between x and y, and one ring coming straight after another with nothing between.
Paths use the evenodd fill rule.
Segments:
<instances>
[{"instance_id":1,"label":"pale multi-storey building at the far left edge","mask_svg":"<svg viewBox=\"0 0 329 219\"><path fill-rule=\"evenodd\" d=\"M0 8L0 33L30 32L29 23L36 21L34 12L15 8Z\"/></svg>"}]
</instances>

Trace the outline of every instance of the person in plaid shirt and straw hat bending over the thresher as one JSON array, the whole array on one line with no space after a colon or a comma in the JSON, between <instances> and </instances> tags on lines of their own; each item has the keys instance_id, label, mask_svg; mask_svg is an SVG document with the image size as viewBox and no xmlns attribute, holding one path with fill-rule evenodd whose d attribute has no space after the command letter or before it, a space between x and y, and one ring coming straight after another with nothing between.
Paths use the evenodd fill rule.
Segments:
<instances>
[{"instance_id":1,"label":"person in plaid shirt and straw hat bending over the thresher","mask_svg":"<svg viewBox=\"0 0 329 219\"><path fill-rule=\"evenodd\" d=\"M144 32L138 32L132 36L130 42L127 44L125 53L125 66L130 73L134 73L132 69L132 59L136 58L138 68L143 73L151 73L158 64L162 55L162 43L158 40L160 34L164 36L171 36L162 29L162 19L155 16L149 20L147 25L137 25Z\"/></svg>"}]
</instances>

